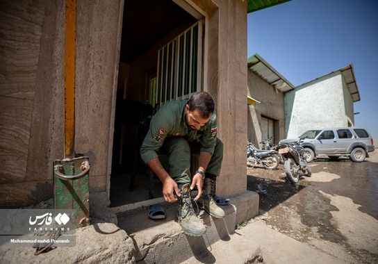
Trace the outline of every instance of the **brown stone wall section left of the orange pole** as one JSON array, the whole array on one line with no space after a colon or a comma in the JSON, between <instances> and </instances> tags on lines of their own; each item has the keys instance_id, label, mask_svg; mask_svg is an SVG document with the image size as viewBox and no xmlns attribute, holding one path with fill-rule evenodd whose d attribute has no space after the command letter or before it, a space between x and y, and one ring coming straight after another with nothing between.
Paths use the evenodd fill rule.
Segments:
<instances>
[{"instance_id":1,"label":"brown stone wall section left of the orange pole","mask_svg":"<svg viewBox=\"0 0 378 264\"><path fill-rule=\"evenodd\" d=\"M52 197L63 158L64 1L0 2L0 207Z\"/></svg>"}]
</instances>

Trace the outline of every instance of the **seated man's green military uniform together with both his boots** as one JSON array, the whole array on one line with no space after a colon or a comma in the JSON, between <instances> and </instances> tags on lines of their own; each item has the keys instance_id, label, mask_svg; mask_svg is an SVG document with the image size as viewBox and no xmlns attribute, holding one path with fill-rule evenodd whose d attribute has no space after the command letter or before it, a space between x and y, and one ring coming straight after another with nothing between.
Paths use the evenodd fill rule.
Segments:
<instances>
[{"instance_id":1,"label":"seated man's green military uniform together with both his boots","mask_svg":"<svg viewBox=\"0 0 378 264\"><path fill-rule=\"evenodd\" d=\"M220 173L223 158L223 144L217 138L217 117L211 115L208 122L199 130L189 130L186 124L186 104L188 101L172 101L162 106L152 117L149 131L140 148L140 155L145 163L158 154L167 154L170 165L169 174L176 181L181 192L179 197L179 223L190 236L202 236L206 228L195 215L190 197L190 152L194 149L211 154L206 167L202 208L213 217L224 217L224 211L213 199L215 195L215 177ZM197 168L194 168L197 169Z\"/></svg>"}]
</instances>

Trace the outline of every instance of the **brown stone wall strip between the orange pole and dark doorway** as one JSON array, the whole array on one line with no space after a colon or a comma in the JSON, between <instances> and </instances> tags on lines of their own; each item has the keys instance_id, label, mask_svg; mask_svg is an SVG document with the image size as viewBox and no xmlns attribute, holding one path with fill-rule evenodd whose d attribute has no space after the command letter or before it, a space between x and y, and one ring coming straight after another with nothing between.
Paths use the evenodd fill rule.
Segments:
<instances>
[{"instance_id":1,"label":"brown stone wall strip between the orange pole and dark doorway","mask_svg":"<svg viewBox=\"0 0 378 264\"><path fill-rule=\"evenodd\" d=\"M122 0L77 1L75 152L90 158L90 192L110 175L122 10Z\"/></svg>"}]
</instances>

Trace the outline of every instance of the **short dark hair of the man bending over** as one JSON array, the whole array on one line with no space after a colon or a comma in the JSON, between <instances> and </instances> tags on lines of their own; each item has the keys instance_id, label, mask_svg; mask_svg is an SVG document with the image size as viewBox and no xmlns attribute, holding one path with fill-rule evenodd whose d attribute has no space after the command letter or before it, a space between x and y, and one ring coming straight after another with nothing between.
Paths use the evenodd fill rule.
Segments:
<instances>
[{"instance_id":1,"label":"short dark hair of the man bending over","mask_svg":"<svg viewBox=\"0 0 378 264\"><path fill-rule=\"evenodd\" d=\"M199 110L202 118L208 118L214 112L214 99L208 92L195 92L188 101L190 111Z\"/></svg>"}]
</instances>

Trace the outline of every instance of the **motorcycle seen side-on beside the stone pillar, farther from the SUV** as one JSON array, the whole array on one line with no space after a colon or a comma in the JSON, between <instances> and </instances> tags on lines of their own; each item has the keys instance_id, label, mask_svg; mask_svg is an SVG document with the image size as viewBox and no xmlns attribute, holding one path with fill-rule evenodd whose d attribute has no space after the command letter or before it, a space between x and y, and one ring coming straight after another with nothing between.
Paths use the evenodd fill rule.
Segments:
<instances>
[{"instance_id":1,"label":"motorcycle seen side-on beside the stone pillar, farther from the SUV","mask_svg":"<svg viewBox=\"0 0 378 264\"><path fill-rule=\"evenodd\" d=\"M263 165L265 169L274 170L279 165L277 151L256 149L251 142L247 144L247 166Z\"/></svg>"}]
</instances>

